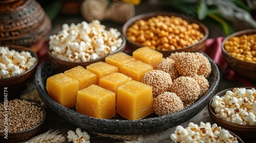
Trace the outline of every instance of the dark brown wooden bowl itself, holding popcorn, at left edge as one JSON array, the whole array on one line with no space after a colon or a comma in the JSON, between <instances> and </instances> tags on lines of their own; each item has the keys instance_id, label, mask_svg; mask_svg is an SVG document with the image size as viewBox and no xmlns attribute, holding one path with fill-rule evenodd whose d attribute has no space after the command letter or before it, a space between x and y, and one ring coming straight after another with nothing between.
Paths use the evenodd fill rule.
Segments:
<instances>
[{"instance_id":1,"label":"dark brown wooden bowl itself, holding popcorn, at left edge","mask_svg":"<svg viewBox=\"0 0 256 143\"><path fill-rule=\"evenodd\" d=\"M28 47L17 46L17 45L7 45L7 46L9 47L10 50L15 50L18 52L28 51L31 53L31 56L36 58L35 64L24 73L17 76L10 77L10 78L0 79L0 92L4 93L4 90L7 90L8 98L14 98L19 96L19 94L26 89L28 81L33 76L37 68L38 56L34 51L32 51ZM7 89L4 89L5 87L7 87ZM3 100L3 99L1 98L0 100Z\"/></svg>"}]
</instances>

